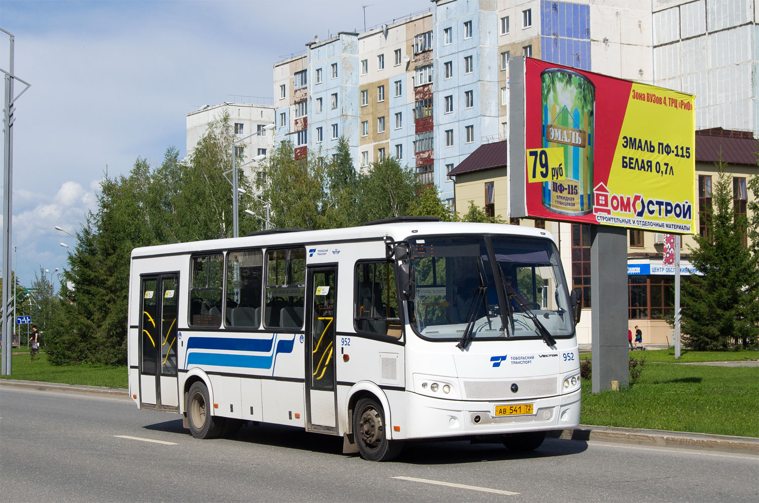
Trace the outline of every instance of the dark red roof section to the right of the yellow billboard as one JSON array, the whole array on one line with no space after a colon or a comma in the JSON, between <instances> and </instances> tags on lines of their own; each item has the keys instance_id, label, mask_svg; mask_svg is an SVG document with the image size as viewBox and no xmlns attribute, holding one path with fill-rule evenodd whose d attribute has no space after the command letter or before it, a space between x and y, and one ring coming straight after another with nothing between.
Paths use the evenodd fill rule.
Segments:
<instances>
[{"instance_id":1,"label":"dark red roof section to the right of the yellow billboard","mask_svg":"<svg viewBox=\"0 0 759 503\"><path fill-rule=\"evenodd\" d=\"M721 127L696 131L696 161L757 165L759 140L750 132Z\"/></svg>"}]
</instances>

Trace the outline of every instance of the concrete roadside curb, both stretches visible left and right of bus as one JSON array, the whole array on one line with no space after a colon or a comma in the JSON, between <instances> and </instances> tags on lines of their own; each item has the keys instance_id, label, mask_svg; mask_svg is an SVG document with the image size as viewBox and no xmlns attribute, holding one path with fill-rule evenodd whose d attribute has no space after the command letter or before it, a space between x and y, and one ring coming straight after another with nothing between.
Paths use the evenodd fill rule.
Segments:
<instances>
[{"instance_id":1,"label":"concrete roadside curb, both stretches visible left and right of bus","mask_svg":"<svg viewBox=\"0 0 759 503\"><path fill-rule=\"evenodd\" d=\"M57 384L37 381L15 381L0 379L0 386L9 388L35 389L76 395L106 395L129 400L129 391L99 386ZM667 432L659 429L616 428L614 426L580 425L576 429L559 429L549 432L553 439L581 440L585 442L613 442L647 447L667 447L697 449L700 451L729 452L733 454L754 454L759 456L759 439L710 435L707 433Z\"/></svg>"}]
</instances>

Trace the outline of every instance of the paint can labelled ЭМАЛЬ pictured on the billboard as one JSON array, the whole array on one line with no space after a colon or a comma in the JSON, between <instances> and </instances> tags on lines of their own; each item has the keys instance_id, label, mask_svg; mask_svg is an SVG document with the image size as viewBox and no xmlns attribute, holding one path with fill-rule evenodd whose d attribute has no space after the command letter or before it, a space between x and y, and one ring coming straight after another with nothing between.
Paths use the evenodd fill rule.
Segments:
<instances>
[{"instance_id":1,"label":"paint can labelled \u042d\u041c\u0410\u041b\u042c pictured on the billboard","mask_svg":"<svg viewBox=\"0 0 759 503\"><path fill-rule=\"evenodd\" d=\"M565 180L543 182L543 206L562 215L593 211L596 86L560 68L540 73L543 148L564 150Z\"/></svg>"}]
</instances>

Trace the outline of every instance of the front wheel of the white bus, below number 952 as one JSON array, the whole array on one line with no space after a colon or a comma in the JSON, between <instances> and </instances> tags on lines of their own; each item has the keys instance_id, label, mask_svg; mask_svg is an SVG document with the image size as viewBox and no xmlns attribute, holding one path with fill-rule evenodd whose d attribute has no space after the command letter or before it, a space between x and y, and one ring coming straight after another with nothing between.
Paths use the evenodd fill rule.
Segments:
<instances>
[{"instance_id":1,"label":"front wheel of the white bus, below number 952","mask_svg":"<svg viewBox=\"0 0 759 503\"><path fill-rule=\"evenodd\" d=\"M371 398L361 398L353 413L353 438L367 461L390 461L403 450L403 442L389 440L385 411Z\"/></svg>"}]
</instances>

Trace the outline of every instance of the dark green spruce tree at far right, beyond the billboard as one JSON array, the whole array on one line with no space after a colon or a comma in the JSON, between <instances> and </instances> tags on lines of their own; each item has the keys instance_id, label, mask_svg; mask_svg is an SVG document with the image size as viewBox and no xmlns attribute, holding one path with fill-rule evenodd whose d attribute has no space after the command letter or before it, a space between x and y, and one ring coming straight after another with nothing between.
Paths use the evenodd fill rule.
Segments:
<instances>
[{"instance_id":1,"label":"dark green spruce tree at far right, beyond the billboard","mask_svg":"<svg viewBox=\"0 0 759 503\"><path fill-rule=\"evenodd\" d=\"M707 212L707 237L696 235L691 263L701 275L682 284L682 332L685 344L698 351L725 351L756 345L759 302L757 255L742 243L748 225L735 215L732 177L718 165Z\"/></svg>"}]
</instances>

